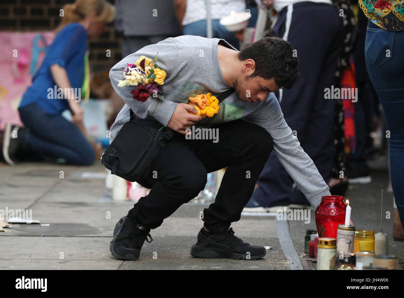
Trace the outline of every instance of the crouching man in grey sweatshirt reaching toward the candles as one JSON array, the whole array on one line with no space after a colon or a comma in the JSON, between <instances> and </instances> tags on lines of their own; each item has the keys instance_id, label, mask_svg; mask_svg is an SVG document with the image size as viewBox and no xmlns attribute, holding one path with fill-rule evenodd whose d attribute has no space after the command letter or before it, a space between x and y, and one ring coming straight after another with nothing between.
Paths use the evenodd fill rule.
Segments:
<instances>
[{"instance_id":1,"label":"crouching man in grey sweatshirt reaching toward the candles","mask_svg":"<svg viewBox=\"0 0 404 298\"><path fill-rule=\"evenodd\" d=\"M265 256L263 246L245 243L234 235L230 225L240 220L271 150L314 209L322 196L330 195L313 161L285 123L273 93L283 87L290 89L299 76L293 50L291 44L280 38L263 38L237 51L223 39L179 36L145 46L112 68L109 73L112 85L126 105L111 127L110 142L129 120L130 109L145 122L159 122L177 132L158 152L150 170L137 181L151 190L116 224L110 243L114 257L137 260L144 241L152 240L150 230L198 196L205 187L207 173L224 167L227 169L215 202L204 209L204 226L191 247L191 256L232 259L248 256L251 260ZM158 60L150 61L156 55ZM146 58L144 65L139 63L141 56ZM154 88L153 84L148 85L153 76L145 68L153 63L158 97L139 97L140 92L135 92L138 88L149 91ZM128 67L141 70L137 75L123 76L130 71ZM127 79L122 82L124 77L135 84L147 77L151 80L133 87ZM160 87L164 87L164 92ZM208 93L219 96L231 88L234 92L213 112L204 114L207 107L196 106L197 100L188 104L189 97ZM207 106L212 108L215 104ZM186 136L193 126L218 129L218 140Z\"/></svg>"}]
</instances>

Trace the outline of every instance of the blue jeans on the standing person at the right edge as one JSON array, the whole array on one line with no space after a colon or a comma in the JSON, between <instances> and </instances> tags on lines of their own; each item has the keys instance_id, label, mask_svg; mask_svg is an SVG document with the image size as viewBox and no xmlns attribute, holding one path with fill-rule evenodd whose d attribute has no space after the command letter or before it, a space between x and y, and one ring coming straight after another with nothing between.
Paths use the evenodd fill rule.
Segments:
<instances>
[{"instance_id":1,"label":"blue jeans on the standing person at the right edge","mask_svg":"<svg viewBox=\"0 0 404 298\"><path fill-rule=\"evenodd\" d=\"M389 137L391 186L404 224L404 32L385 31L368 22L366 68L379 95ZM387 132L388 133L388 132Z\"/></svg>"}]
</instances>

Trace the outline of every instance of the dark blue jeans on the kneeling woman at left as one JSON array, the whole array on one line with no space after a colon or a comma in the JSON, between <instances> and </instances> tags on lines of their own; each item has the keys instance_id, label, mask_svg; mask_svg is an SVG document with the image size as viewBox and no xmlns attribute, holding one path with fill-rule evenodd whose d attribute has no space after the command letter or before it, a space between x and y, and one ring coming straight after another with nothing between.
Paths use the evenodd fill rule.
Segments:
<instances>
[{"instance_id":1,"label":"dark blue jeans on the kneeling woman at left","mask_svg":"<svg viewBox=\"0 0 404 298\"><path fill-rule=\"evenodd\" d=\"M18 109L21 121L29 129L20 129L18 139L32 154L62 158L74 165L91 165L93 146L80 129L61 115L48 114L35 102Z\"/></svg>"}]
</instances>

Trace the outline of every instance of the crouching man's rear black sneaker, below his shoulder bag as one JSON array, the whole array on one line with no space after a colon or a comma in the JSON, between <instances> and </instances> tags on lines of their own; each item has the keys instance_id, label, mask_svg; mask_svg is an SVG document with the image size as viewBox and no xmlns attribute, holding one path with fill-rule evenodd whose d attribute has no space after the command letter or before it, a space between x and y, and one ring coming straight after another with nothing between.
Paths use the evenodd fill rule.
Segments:
<instances>
[{"instance_id":1,"label":"crouching man's rear black sneaker, below his shoulder bag","mask_svg":"<svg viewBox=\"0 0 404 298\"><path fill-rule=\"evenodd\" d=\"M115 225L114 238L109 245L109 251L112 256L120 260L138 260L145 240L153 241L149 232L149 228L124 216ZM147 237L150 237L150 240Z\"/></svg>"}]
</instances>

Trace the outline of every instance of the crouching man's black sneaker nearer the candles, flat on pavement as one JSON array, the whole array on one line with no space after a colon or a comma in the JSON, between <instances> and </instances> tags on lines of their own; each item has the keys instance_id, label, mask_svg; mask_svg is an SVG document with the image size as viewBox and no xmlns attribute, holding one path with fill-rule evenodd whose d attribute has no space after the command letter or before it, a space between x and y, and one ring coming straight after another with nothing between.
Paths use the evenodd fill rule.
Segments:
<instances>
[{"instance_id":1,"label":"crouching man's black sneaker nearer the candles, flat on pavement","mask_svg":"<svg viewBox=\"0 0 404 298\"><path fill-rule=\"evenodd\" d=\"M191 248L191 256L196 258L257 260L266 253L263 246L250 245L234 236L232 228L213 235L202 228L198 233L198 241Z\"/></svg>"}]
</instances>

